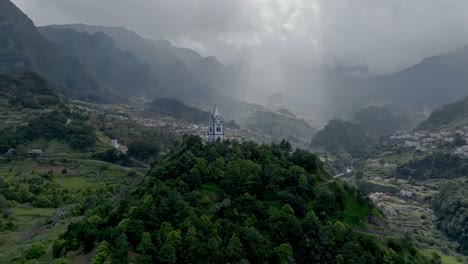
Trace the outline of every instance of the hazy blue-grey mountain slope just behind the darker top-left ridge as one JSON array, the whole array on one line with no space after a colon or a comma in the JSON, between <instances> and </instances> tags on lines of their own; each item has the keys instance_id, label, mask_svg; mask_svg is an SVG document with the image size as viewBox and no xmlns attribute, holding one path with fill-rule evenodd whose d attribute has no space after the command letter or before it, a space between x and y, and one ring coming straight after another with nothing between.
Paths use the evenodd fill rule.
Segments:
<instances>
[{"instance_id":1,"label":"hazy blue-grey mountain slope just behind the darker top-left ridge","mask_svg":"<svg viewBox=\"0 0 468 264\"><path fill-rule=\"evenodd\" d=\"M148 65L130 52L120 50L114 40L102 32L90 35L71 29L41 27L39 32L67 56L75 56L103 89L121 95L137 96L155 88Z\"/></svg>"}]
</instances>

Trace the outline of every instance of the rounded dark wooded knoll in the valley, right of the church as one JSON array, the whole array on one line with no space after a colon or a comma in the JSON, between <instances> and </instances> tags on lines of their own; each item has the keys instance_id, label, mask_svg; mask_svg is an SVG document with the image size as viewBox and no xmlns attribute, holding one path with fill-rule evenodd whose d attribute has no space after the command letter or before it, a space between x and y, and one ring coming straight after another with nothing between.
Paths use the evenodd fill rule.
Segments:
<instances>
[{"instance_id":1,"label":"rounded dark wooded knoll in the valley, right of the church","mask_svg":"<svg viewBox=\"0 0 468 264\"><path fill-rule=\"evenodd\" d=\"M359 157L375 144L375 139L357 124L339 119L331 120L312 138L311 147L333 155Z\"/></svg>"}]
</instances>

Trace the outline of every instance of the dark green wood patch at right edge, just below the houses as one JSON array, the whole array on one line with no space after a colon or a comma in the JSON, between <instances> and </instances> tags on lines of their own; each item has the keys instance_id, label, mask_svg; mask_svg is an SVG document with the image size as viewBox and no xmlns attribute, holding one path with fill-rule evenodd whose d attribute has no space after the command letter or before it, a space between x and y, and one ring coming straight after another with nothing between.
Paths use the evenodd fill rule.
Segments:
<instances>
[{"instance_id":1,"label":"dark green wood patch at right edge, just below the houses","mask_svg":"<svg viewBox=\"0 0 468 264\"><path fill-rule=\"evenodd\" d=\"M468 175L468 161L452 154L435 152L399 165L396 172L400 178L416 180L453 179Z\"/></svg>"}]
</instances>

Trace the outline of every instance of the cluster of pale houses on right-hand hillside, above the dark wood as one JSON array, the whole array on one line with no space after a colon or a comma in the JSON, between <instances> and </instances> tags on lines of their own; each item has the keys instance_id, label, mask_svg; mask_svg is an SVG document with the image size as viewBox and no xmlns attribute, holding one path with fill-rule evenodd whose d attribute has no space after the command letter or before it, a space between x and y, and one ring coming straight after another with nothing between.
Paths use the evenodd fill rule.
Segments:
<instances>
[{"instance_id":1,"label":"cluster of pale houses on right-hand hillside, above the dark wood","mask_svg":"<svg viewBox=\"0 0 468 264\"><path fill-rule=\"evenodd\" d=\"M442 130L438 132L397 132L390 136L390 141L405 148L415 148L422 152L431 152L438 148L440 144L453 143L459 137L468 142L468 126L455 131ZM467 144L467 143L465 143ZM454 151L457 155L468 157L468 144Z\"/></svg>"}]
</instances>

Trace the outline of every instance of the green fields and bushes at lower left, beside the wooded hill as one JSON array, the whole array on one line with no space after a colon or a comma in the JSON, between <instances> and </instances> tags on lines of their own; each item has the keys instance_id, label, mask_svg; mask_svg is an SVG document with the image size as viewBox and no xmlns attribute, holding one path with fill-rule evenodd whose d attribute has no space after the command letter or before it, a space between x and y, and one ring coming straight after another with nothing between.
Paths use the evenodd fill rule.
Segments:
<instances>
[{"instance_id":1,"label":"green fields and bushes at lower left, beside the wooded hill","mask_svg":"<svg viewBox=\"0 0 468 264\"><path fill-rule=\"evenodd\" d=\"M130 172L90 160L0 159L0 263L53 263L53 239L90 207L141 181Z\"/></svg>"}]
</instances>

